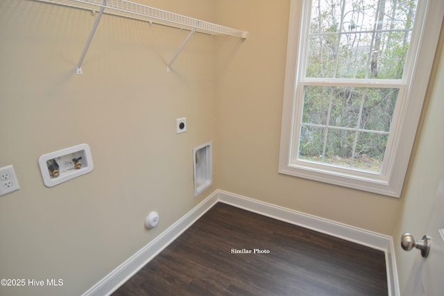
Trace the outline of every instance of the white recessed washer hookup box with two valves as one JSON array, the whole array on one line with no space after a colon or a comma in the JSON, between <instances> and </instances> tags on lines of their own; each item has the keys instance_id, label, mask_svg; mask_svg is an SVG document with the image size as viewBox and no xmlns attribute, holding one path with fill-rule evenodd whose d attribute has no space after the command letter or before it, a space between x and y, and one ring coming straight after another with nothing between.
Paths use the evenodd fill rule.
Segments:
<instances>
[{"instance_id":1,"label":"white recessed washer hookup box with two valves","mask_svg":"<svg viewBox=\"0 0 444 296\"><path fill-rule=\"evenodd\" d=\"M92 171L91 150L87 144L80 144L48 153L39 158L39 166L44 184L56 186Z\"/></svg>"}]
</instances>

